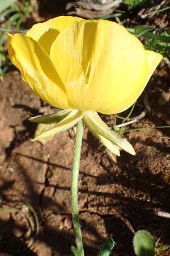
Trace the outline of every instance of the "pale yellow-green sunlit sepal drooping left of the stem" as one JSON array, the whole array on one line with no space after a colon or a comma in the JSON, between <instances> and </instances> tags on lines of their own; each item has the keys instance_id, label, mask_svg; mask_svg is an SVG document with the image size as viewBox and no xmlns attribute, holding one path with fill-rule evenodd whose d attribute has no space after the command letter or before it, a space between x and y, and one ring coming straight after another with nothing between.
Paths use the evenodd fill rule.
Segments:
<instances>
[{"instance_id":1,"label":"pale yellow-green sunlit sepal drooping left of the stem","mask_svg":"<svg viewBox=\"0 0 170 256\"><path fill-rule=\"evenodd\" d=\"M65 131L70 129L72 126L76 125L83 118L84 112L80 110L72 110L65 118L56 123L51 123L49 125L45 125L44 123L40 123L37 126L35 138L32 141L36 141L39 139L44 139L48 136L59 133L60 131Z\"/></svg>"}]
</instances>

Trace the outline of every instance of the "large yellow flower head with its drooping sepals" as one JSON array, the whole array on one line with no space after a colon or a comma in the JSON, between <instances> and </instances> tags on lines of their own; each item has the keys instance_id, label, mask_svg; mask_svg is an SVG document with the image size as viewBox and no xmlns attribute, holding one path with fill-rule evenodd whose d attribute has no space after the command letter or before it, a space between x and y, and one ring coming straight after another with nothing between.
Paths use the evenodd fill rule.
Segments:
<instances>
[{"instance_id":1,"label":"large yellow flower head with its drooping sepals","mask_svg":"<svg viewBox=\"0 0 170 256\"><path fill-rule=\"evenodd\" d=\"M69 129L81 118L109 150L135 154L97 112L115 114L140 96L162 55L146 51L124 27L108 20L59 16L9 35L8 52L22 79L57 113L31 118L43 123L35 139Z\"/></svg>"}]
</instances>

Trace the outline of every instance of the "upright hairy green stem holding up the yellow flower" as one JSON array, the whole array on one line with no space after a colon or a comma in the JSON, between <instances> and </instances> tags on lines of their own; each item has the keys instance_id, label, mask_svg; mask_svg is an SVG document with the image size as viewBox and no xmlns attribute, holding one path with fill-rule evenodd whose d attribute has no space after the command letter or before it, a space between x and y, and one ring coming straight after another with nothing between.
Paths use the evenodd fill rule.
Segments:
<instances>
[{"instance_id":1,"label":"upright hairy green stem holding up the yellow flower","mask_svg":"<svg viewBox=\"0 0 170 256\"><path fill-rule=\"evenodd\" d=\"M72 209L72 215L73 215L73 226L74 226L75 241L76 241L78 256L84 256L82 233L80 229L79 210L78 210L78 177L79 177L83 130L84 130L83 120L81 119L76 129L73 171L72 171L72 179L71 179L71 209Z\"/></svg>"}]
</instances>

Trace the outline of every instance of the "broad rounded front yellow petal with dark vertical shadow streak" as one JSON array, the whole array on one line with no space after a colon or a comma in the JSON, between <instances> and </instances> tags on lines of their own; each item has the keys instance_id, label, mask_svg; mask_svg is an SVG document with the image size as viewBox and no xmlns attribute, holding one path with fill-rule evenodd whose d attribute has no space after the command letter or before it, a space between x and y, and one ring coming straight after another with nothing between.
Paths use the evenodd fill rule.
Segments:
<instances>
[{"instance_id":1,"label":"broad rounded front yellow petal with dark vertical shadow streak","mask_svg":"<svg viewBox=\"0 0 170 256\"><path fill-rule=\"evenodd\" d=\"M108 20L71 24L57 36L50 57L74 109L118 113L129 108L145 87L147 57L142 43Z\"/></svg>"}]
</instances>

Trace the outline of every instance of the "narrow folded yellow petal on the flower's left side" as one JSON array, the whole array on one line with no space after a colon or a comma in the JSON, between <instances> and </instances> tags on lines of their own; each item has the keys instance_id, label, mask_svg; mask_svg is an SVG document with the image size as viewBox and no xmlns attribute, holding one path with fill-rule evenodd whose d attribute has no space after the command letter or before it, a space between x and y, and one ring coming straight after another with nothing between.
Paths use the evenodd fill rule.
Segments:
<instances>
[{"instance_id":1,"label":"narrow folded yellow petal on the flower's left side","mask_svg":"<svg viewBox=\"0 0 170 256\"><path fill-rule=\"evenodd\" d=\"M50 105L69 109L65 86L49 56L35 40L22 34L10 36L8 52L33 92Z\"/></svg>"}]
</instances>

